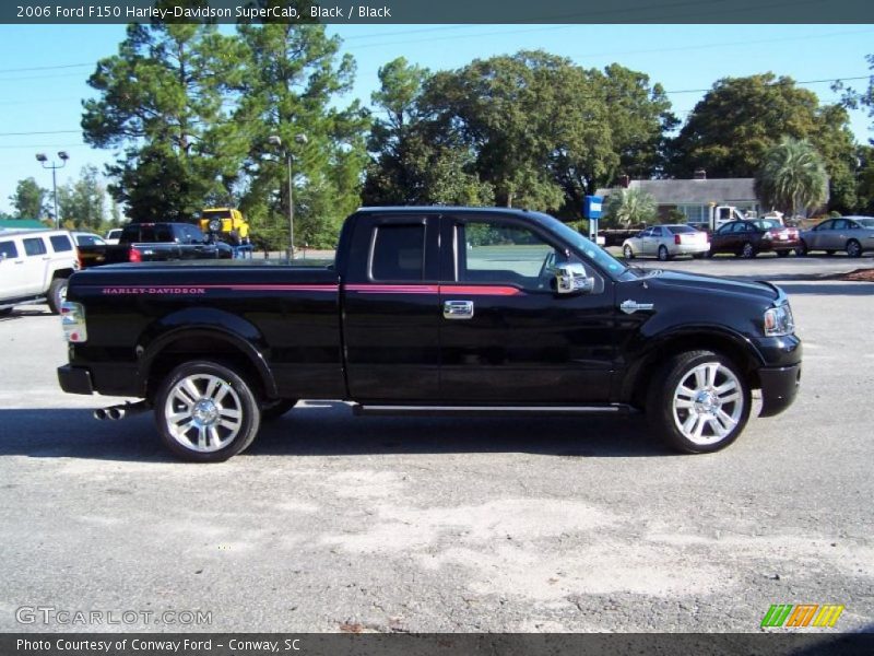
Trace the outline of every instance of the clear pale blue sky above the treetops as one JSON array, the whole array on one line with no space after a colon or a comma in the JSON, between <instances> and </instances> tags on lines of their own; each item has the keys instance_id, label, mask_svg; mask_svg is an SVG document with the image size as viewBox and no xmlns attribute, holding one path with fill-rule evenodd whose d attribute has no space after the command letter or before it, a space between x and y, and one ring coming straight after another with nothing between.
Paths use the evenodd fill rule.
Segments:
<instances>
[{"instance_id":1,"label":"clear pale blue sky above the treetops","mask_svg":"<svg viewBox=\"0 0 874 656\"><path fill-rule=\"evenodd\" d=\"M352 92L369 105L379 67L397 57L432 71L462 67L473 59L544 49L583 67L613 62L643 72L668 91L674 113L689 110L724 77L773 72L789 75L823 103L838 94L835 80L864 89L874 54L874 25L330 25L342 51L357 62ZM60 164L58 185L92 164L103 169L113 152L82 139L82 99L92 97L87 78L98 59L114 55L123 25L0 25L0 211L17 180L34 177L51 189L51 171L36 153ZM854 80L853 80L854 79ZM851 113L860 143L874 138L865 112Z\"/></svg>"}]
</instances>

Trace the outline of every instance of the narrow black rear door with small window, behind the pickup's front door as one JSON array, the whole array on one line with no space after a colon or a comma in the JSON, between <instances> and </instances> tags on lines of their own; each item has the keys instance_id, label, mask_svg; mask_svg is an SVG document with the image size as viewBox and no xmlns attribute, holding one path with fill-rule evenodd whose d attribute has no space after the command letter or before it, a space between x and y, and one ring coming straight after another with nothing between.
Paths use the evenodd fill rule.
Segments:
<instances>
[{"instance_id":1,"label":"narrow black rear door with small window, behind the pickup's front door","mask_svg":"<svg viewBox=\"0 0 874 656\"><path fill-rule=\"evenodd\" d=\"M353 399L436 399L438 237L436 214L355 219L341 296L346 380Z\"/></svg>"}]
</instances>

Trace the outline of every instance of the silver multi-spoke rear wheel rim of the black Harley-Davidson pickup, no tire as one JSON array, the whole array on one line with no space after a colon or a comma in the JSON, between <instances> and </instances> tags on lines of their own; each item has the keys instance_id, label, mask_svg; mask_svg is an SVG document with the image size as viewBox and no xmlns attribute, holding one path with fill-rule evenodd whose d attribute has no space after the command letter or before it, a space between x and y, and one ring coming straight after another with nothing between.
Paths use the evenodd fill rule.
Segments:
<instances>
[{"instance_id":1,"label":"silver multi-spoke rear wheel rim of the black Harley-Davidson pickup, no tire","mask_svg":"<svg viewBox=\"0 0 874 656\"><path fill-rule=\"evenodd\" d=\"M164 417L169 435L186 449L214 453L228 446L243 427L244 406L227 380L191 374L169 389Z\"/></svg>"}]
</instances>

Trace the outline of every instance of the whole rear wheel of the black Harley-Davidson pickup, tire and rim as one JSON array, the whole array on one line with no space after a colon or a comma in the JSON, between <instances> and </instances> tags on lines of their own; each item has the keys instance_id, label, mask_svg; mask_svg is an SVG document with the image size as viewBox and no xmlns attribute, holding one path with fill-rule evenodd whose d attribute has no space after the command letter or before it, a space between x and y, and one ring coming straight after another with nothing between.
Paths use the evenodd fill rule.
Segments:
<instances>
[{"instance_id":1,"label":"whole rear wheel of the black Harley-Davidson pickup, tire and rim","mask_svg":"<svg viewBox=\"0 0 874 656\"><path fill-rule=\"evenodd\" d=\"M226 365L205 360L173 370L155 395L154 408L164 444L191 462L227 460L252 443L261 425L261 406L249 383Z\"/></svg>"}]
</instances>

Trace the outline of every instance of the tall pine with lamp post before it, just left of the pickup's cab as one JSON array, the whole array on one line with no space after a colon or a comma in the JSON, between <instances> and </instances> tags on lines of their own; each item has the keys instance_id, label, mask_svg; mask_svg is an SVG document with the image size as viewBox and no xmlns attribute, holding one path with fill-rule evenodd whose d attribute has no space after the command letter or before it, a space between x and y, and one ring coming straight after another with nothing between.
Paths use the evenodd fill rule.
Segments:
<instances>
[{"instance_id":1,"label":"tall pine with lamp post before it, just left of the pickup's cab","mask_svg":"<svg viewBox=\"0 0 874 656\"><path fill-rule=\"evenodd\" d=\"M290 153L295 242L333 246L342 219L359 204L367 161L367 113L357 101L338 107L339 96L352 87L354 61L349 55L338 58L340 39L329 37L323 25L240 25L238 32L245 74L233 117L245 126L248 142L240 208L267 246L287 244ZM271 145L272 136L281 139L281 149Z\"/></svg>"}]
</instances>

